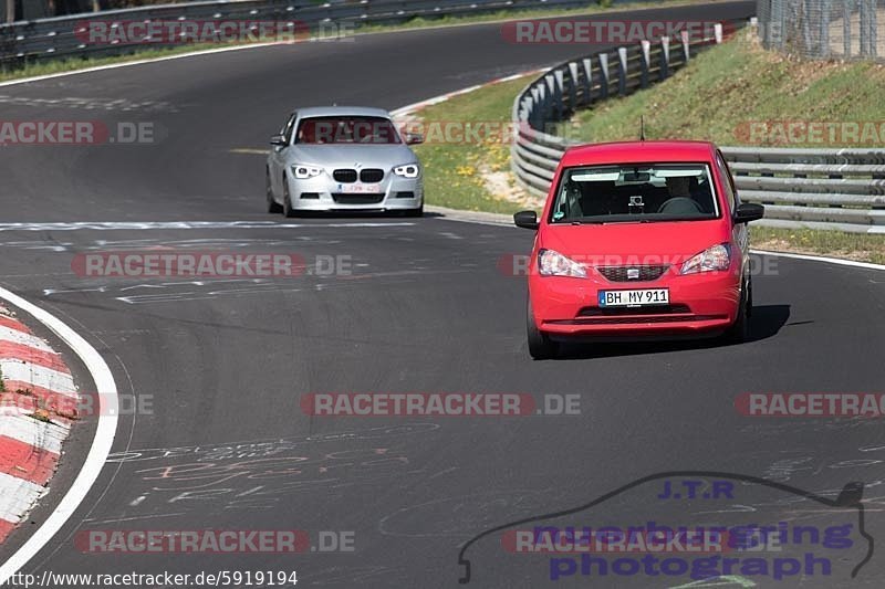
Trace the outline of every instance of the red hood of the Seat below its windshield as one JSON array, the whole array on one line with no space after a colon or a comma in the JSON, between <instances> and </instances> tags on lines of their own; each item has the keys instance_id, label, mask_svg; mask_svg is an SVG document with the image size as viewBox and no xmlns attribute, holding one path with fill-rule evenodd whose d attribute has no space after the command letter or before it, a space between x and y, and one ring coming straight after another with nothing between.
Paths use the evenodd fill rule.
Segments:
<instances>
[{"instance_id":1,"label":"red hood of the Seat below its windshield","mask_svg":"<svg viewBox=\"0 0 885 589\"><path fill-rule=\"evenodd\" d=\"M681 263L730 241L722 220L545 225L539 246L593 265Z\"/></svg>"}]
</instances>

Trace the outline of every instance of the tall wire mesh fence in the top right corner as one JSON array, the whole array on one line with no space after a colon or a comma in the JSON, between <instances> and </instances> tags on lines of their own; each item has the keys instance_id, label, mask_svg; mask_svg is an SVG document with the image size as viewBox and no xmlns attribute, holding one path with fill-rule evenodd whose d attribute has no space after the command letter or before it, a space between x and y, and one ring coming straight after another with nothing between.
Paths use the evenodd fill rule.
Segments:
<instances>
[{"instance_id":1,"label":"tall wire mesh fence in the top right corner","mask_svg":"<svg viewBox=\"0 0 885 589\"><path fill-rule=\"evenodd\" d=\"M885 59L885 0L757 0L767 49L811 59Z\"/></svg>"}]
</instances>

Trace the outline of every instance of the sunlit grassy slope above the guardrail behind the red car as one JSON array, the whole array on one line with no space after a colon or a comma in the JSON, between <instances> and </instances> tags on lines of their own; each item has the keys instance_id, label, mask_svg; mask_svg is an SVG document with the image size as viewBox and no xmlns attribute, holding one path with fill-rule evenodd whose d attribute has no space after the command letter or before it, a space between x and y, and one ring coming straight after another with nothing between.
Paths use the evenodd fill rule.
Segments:
<instances>
[{"instance_id":1,"label":"sunlit grassy slope above the guardrail behind the red car","mask_svg":"<svg viewBox=\"0 0 885 589\"><path fill-rule=\"evenodd\" d=\"M654 87L582 111L570 133L583 141L635 139L644 116L646 136L653 139L770 146L785 145L785 137L769 133L751 137L751 123L882 120L885 65L798 62L738 36L699 53ZM840 145L829 134L821 139L789 146ZM885 145L885 137L877 145Z\"/></svg>"}]
</instances>

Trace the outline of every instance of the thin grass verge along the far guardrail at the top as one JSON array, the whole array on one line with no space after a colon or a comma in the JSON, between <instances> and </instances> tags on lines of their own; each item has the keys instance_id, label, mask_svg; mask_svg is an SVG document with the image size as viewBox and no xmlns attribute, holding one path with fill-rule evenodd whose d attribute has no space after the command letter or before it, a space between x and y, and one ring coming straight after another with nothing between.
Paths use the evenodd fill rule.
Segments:
<instances>
[{"instance_id":1,"label":"thin grass verge along the far guardrail at the top","mask_svg":"<svg viewBox=\"0 0 885 589\"><path fill-rule=\"evenodd\" d=\"M679 6L679 4L699 3L705 0L663 0L663 1L674 6ZM357 34L377 33L377 32L388 32L388 31L400 31L407 29L426 29L431 27L448 27L455 24L493 22L493 21L518 19L518 18L521 19L521 18L541 18L541 17L565 17L575 14L596 14L600 12L617 12L624 10L634 10L637 8L658 7L660 3L662 2L659 1L658 2L648 1L648 2L636 2L633 4L610 8L589 1L587 7L582 9L525 10L525 11L501 10L498 12L477 14L475 17L470 15L440 17L437 19L416 18L416 19L409 19L398 24L363 25L356 29L355 32ZM88 67L96 67L100 65L126 63L132 61L165 57L170 55L180 55L194 51L204 51L209 49L219 49L222 46L233 46L240 44L244 43L228 43L228 44L200 43L200 44L190 44L186 46L168 48L168 49L148 49L148 48L135 46L133 48L134 52L126 55L116 55L108 57L70 57L70 59L59 59L52 61L39 61L35 63L29 63L23 67L18 67L13 70L7 70L7 69L0 70L0 82L4 82L8 80L20 80L23 77L56 74L61 72L73 72L77 70L85 70Z\"/></svg>"}]
</instances>

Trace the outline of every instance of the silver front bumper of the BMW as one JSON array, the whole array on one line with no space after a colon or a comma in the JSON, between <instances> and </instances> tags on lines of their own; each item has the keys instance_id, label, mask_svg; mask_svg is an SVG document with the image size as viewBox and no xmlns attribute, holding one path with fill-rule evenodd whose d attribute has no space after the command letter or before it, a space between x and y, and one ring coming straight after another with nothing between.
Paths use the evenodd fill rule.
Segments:
<instances>
[{"instance_id":1,"label":"silver front bumper of the BMW","mask_svg":"<svg viewBox=\"0 0 885 589\"><path fill-rule=\"evenodd\" d=\"M336 182L327 173L299 180L287 175L292 209L302 211L400 211L424 203L421 178L403 178L392 172L381 182ZM371 192L347 192L360 187Z\"/></svg>"}]
</instances>

